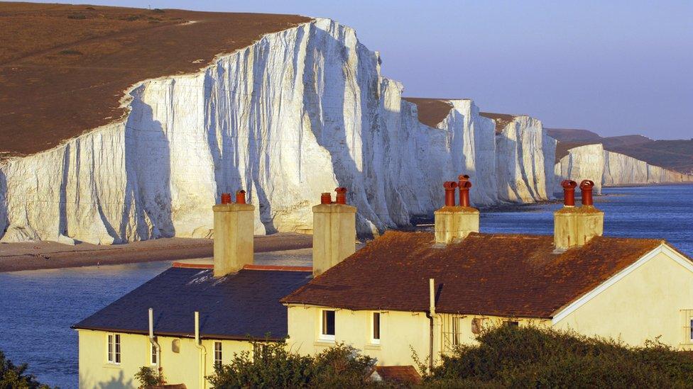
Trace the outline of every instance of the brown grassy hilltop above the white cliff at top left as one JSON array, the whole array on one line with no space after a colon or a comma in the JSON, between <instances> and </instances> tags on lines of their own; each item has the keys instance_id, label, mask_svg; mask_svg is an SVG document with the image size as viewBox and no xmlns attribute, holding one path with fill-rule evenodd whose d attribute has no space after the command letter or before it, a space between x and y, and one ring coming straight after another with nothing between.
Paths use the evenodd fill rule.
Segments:
<instances>
[{"instance_id":1,"label":"brown grassy hilltop above the white cliff at top left","mask_svg":"<svg viewBox=\"0 0 693 389\"><path fill-rule=\"evenodd\" d=\"M295 15L0 3L0 159L48 150L124 115L137 81L310 21Z\"/></svg>"}]
</instances>

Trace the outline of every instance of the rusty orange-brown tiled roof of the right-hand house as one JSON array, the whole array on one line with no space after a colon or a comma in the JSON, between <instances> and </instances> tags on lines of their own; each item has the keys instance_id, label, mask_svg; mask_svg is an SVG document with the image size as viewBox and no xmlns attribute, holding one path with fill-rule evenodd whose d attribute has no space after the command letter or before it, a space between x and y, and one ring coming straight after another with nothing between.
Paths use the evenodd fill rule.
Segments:
<instances>
[{"instance_id":1,"label":"rusty orange-brown tiled roof of the right-hand house","mask_svg":"<svg viewBox=\"0 0 693 389\"><path fill-rule=\"evenodd\" d=\"M594 237L561 253L552 236L434 242L428 232L386 232L282 302L425 312L435 278L437 312L550 318L663 241Z\"/></svg>"}]
</instances>

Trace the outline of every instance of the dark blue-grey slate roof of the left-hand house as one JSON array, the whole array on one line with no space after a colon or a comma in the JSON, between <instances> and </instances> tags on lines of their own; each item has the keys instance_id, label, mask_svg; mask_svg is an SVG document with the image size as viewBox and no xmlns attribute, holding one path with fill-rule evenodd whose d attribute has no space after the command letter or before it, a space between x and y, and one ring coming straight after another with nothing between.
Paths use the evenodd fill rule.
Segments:
<instances>
[{"instance_id":1,"label":"dark blue-grey slate roof of the left-hand house","mask_svg":"<svg viewBox=\"0 0 693 389\"><path fill-rule=\"evenodd\" d=\"M172 267L134 291L72 326L148 334L148 309L154 333L211 339L281 339L287 335L287 308L279 299L312 278L310 271L242 269L222 278L212 269Z\"/></svg>"}]
</instances>

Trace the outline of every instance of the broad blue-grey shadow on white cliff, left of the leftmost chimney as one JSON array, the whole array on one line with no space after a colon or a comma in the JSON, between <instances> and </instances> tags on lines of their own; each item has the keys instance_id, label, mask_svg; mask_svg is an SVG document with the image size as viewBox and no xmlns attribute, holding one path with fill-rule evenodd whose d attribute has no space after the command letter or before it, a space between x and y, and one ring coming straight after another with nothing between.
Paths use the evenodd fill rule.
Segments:
<instances>
[{"instance_id":1,"label":"broad blue-grey shadow on white cliff, left of the leftmost chimney","mask_svg":"<svg viewBox=\"0 0 693 389\"><path fill-rule=\"evenodd\" d=\"M132 111L125 128L127 182L119 228L123 240L175 236L168 134L155 120L152 107L142 101L144 88L140 86L131 92ZM135 218L134 225L131 217Z\"/></svg>"}]
</instances>

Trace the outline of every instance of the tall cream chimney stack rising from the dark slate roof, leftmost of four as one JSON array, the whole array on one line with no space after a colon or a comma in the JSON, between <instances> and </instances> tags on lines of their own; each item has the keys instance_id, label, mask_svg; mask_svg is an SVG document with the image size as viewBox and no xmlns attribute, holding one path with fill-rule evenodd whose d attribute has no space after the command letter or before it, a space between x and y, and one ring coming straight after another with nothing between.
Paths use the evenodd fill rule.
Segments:
<instances>
[{"instance_id":1,"label":"tall cream chimney stack rising from the dark slate roof, leftmost of four","mask_svg":"<svg viewBox=\"0 0 693 389\"><path fill-rule=\"evenodd\" d=\"M246 204L246 191L222 193L222 203L214 205L214 277L239 271L253 263L255 207Z\"/></svg>"}]
</instances>

